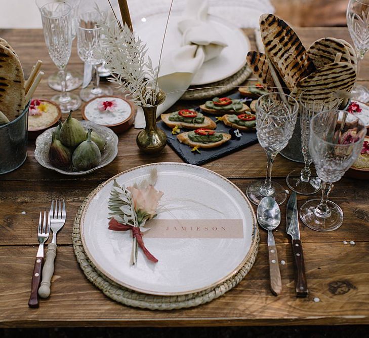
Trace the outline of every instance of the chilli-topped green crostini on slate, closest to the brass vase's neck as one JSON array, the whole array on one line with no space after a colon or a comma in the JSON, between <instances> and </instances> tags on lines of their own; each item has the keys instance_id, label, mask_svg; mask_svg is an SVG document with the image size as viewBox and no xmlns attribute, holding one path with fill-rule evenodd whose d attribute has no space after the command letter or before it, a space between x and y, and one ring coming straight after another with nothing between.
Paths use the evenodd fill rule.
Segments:
<instances>
[{"instance_id":1,"label":"chilli-topped green crostini on slate, closest to the brass vase's neck","mask_svg":"<svg viewBox=\"0 0 369 338\"><path fill-rule=\"evenodd\" d=\"M203 116L203 114L194 109L181 109L170 114L161 114L161 121L169 128L179 126L186 129L215 129L217 127L211 118Z\"/></svg>"}]
</instances>

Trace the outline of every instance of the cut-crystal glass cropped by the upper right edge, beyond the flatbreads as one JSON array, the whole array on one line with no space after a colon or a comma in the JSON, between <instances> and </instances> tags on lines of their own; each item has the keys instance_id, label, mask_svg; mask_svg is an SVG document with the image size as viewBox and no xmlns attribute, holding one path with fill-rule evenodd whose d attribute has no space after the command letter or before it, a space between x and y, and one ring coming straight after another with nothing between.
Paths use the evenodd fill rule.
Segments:
<instances>
[{"instance_id":1,"label":"cut-crystal glass cropped by the upper right edge, beyond the flatbreads","mask_svg":"<svg viewBox=\"0 0 369 338\"><path fill-rule=\"evenodd\" d=\"M350 0L346 12L347 27L357 54L356 85L352 93L361 102L369 101L369 90L357 84L359 64L369 49L369 0Z\"/></svg>"}]
</instances>

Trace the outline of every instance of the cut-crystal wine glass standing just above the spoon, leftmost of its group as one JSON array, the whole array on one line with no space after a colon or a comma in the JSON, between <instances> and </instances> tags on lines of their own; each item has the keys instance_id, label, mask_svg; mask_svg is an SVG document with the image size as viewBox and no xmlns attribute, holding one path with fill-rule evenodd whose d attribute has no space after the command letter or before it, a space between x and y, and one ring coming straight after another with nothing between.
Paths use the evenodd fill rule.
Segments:
<instances>
[{"instance_id":1,"label":"cut-crystal wine glass standing just above the spoon, leftmost of its group","mask_svg":"<svg viewBox=\"0 0 369 338\"><path fill-rule=\"evenodd\" d=\"M271 196L278 204L286 199L283 186L271 181L272 166L277 154L287 145L295 129L299 104L291 96L268 93L256 104L256 134L267 155L267 173L264 182L248 186L247 196L258 205L263 197Z\"/></svg>"}]
</instances>

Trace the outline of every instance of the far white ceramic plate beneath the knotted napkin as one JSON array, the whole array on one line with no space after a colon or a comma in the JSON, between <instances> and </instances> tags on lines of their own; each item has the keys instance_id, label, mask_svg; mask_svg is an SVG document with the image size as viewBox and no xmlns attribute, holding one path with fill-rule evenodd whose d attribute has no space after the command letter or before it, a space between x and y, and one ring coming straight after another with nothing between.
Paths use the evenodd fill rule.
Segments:
<instances>
[{"instance_id":1,"label":"far white ceramic plate beneath the knotted napkin","mask_svg":"<svg viewBox=\"0 0 369 338\"><path fill-rule=\"evenodd\" d=\"M203 63L191 85L209 84L232 76L245 65L247 53L251 48L249 39L240 29L221 18L211 15L208 18L214 29L223 35L228 46L222 50L218 57ZM148 55L153 65L156 66L159 63L168 14L160 13L145 19L145 22L137 22L134 29L140 39L147 44ZM174 13L169 19L162 57L181 47L182 34L177 28L180 19L181 16Z\"/></svg>"}]
</instances>

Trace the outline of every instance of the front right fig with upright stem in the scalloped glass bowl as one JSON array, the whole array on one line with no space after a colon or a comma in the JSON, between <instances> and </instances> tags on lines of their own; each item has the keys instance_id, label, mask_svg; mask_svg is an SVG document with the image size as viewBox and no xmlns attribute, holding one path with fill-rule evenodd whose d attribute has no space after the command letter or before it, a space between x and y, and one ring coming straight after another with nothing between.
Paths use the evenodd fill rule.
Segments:
<instances>
[{"instance_id":1,"label":"front right fig with upright stem in the scalloped glass bowl","mask_svg":"<svg viewBox=\"0 0 369 338\"><path fill-rule=\"evenodd\" d=\"M79 171L95 168L101 161L99 147L91 140L91 132L89 129L87 140L75 148L72 156L73 166Z\"/></svg>"}]
</instances>

